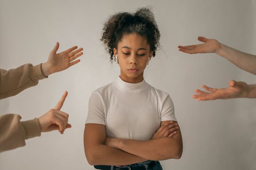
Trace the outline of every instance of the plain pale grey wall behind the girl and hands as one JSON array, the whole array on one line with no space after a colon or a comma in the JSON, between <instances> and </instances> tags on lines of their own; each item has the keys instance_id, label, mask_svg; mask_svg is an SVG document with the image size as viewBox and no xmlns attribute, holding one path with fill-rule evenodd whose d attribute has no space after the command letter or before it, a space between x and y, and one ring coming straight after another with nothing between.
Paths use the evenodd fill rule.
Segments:
<instances>
[{"instance_id":1,"label":"plain pale grey wall behind the girl and hands","mask_svg":"<svg viewBox=\"0 0 256 170\"><path fill-rule=\"evenodd\" d=\"M75 45L84 48L76 66L0 100L0 114L20 114L22 120L28 120L53 108L67 90L62 111L69 114L72 124L64 135L42 133L27 140L25 147L1 153L1 170L94 169L83 149L88 99L93 90L120 74L99 40L102 24L115 12L134 12L148 5L153 7L162 48L144 77L170 94L184 142L182 158L161 161L163 169L256 169L256 100L192 99L202 84L227 87L231 79L252 84L256 76L216 54L189 55L177 48L198 44L197 36L206 36L256 54L255 0L0 0L0 68L45 62L56 41L60 42L59 52Z\"/></svg>"}]
</instances>

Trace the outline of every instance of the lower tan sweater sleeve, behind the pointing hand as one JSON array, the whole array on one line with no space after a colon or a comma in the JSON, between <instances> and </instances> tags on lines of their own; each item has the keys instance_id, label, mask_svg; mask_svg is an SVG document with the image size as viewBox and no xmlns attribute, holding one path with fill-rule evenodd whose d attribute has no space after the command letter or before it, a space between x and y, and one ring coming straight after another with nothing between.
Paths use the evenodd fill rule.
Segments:
<instances>
[{"instance_id":1,"label":"lower tan sweater sleeve, behind the pointing hand","mask_svg":"<svg viewBox=\"0 0 256 170\"><path fill-rule=\"evenodd\" d=\"M41 136L37 118L20 122L16 114L0 115L0 153L25 146L25 139Z\"/></svg>"}]
</instances>

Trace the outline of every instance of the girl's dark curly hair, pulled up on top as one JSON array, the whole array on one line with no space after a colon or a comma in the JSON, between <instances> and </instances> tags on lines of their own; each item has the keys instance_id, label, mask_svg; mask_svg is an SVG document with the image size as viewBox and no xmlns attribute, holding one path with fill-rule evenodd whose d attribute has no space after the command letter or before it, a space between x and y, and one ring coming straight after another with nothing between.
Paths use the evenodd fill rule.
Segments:
<instances>
[{"instance_id":1,"label":"girl's dark curly hair, pulled up on top","mask_svg":"<svg viewBox=\"0 0 256 170\"><path fill-rule=\"evenodd\" d=\"M110 16L103 26L101 41L113 60L113 48L117 48L117 43L125 34L137 33L146 37L150 45L150 51L155 51L159 46L160 32L151 9L139 8L135 13L118 12Z\"/></svg>"}]
</instances>

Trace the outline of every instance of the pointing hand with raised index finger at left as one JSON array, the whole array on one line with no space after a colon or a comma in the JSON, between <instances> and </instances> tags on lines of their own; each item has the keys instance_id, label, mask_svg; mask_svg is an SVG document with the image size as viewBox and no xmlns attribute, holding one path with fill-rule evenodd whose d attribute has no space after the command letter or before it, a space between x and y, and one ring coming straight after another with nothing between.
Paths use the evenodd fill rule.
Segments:
<instances>
[{"instance_id":1,"label":"pointing hand with raised index finger at left","mask_svg":"<svg viewBox=\"0 0 256 170\"><path fill-rule=\"evenodd\" d=\"M59 130L59 132L63 134L65 129L71 128L71 124L68 124L68 114L60 111L67 95L68 92L65 91L55 108L38 118L41 132Z\"/></svg>"}]
</instances>

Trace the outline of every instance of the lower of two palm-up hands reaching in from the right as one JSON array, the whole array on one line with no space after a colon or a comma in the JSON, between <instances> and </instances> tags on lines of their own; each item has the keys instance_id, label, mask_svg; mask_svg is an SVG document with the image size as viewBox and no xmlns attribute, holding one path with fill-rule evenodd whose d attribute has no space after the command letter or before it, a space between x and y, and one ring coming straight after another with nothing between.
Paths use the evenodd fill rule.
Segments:
<instances>
[{"instance_id":1,"label":"lower of two palm-up hands reaching in from the right","mask_svg":"<svg viewBox=\"0 0 256 170\"><path fill-rule=\"evenodd\" d=\"M246 89L248 84L245 82L236 82L231 80L229 87L227 88L211 88L205 85L202 86L206 91L196 89L196 95L193 95L193 99L197 100L215 100L215 99L232 99L243 98L246 96Z\"/></svg>"}]
</instances>

